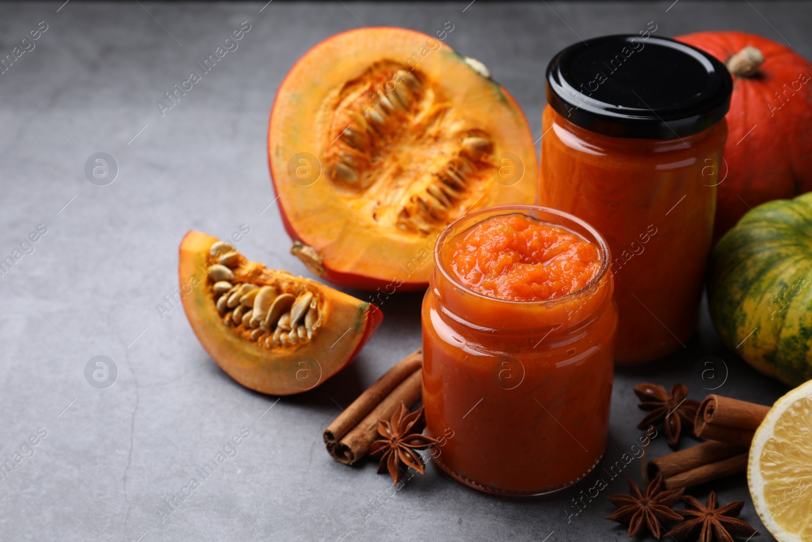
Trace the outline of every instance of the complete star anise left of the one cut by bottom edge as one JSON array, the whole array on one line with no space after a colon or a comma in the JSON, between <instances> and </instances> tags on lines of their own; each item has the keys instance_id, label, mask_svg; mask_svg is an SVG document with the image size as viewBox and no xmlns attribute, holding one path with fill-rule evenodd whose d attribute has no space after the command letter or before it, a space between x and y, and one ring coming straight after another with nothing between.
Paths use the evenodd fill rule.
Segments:
<instances>
[{"instance_id":1,"label":"complete star anise left of the one cut by bottom edge","mask_svg":"<svg viewBox=\"0 0 812 542\"><path fill-rule=\"evenodd\" d=\"M607 519L628 525L629 536L637 536L647 528L659 540L663 523L682 519L680 514L672 510L672 506L676 505L684 491L685 488L663 491L663 477L657 475L646 488L646 495L643 495L640 488L628 478L630 495L607 496L611 504L618 507Z\"/></svg>"}]
</instances>

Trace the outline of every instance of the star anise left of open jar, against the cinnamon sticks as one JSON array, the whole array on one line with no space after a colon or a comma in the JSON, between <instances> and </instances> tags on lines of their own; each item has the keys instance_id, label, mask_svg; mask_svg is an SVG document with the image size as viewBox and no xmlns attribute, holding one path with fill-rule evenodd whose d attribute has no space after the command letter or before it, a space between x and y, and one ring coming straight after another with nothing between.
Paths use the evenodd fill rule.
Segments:
<instances>
[{"instance_id":1,"label":"star anise left of open jar, against the cinnamon sticks","mask_svg":"<svg viewBox=\"0 0 812 542\"><path fill-rule=\"evenodd\" d=\"M370 455L380 455L381 462L378 464L378 474L389 470L392 480L400 482L403 471L400 465L411 466L421 475L425 473L425 463L419 453L414 450L426 449L434 444L438 444L428 436L421 435L425 429L425 417L423 408L409 414L408 408L401 401L400 410L395 410L391 421L378 420L378 433L382 440L375 440L372 443L372 453Z\"/></svg>"}]
</instances>

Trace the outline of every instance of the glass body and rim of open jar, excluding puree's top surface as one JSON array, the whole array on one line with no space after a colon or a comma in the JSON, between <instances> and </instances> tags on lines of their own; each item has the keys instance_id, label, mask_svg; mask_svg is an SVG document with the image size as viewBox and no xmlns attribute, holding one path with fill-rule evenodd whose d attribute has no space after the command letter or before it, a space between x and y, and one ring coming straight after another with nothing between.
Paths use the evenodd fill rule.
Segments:
<instances>
[{"instance_id":1,"label":"glass body and rim of open jar, excluding puree's top surface","mask_svg":"<svg viewBox=\"0 0 812 542\"><path fill-rule=\"evenodd\" d=\"M563 226L598 248L583 288L548 301L477 293L451 269L451 241L502 215ZM606 241L572 215L538 206L478 210L438 237L422 306L423 405L432 454L473 488L553 492L584 477L606 446L617 309Z\"/></svg>"}]
</instances>

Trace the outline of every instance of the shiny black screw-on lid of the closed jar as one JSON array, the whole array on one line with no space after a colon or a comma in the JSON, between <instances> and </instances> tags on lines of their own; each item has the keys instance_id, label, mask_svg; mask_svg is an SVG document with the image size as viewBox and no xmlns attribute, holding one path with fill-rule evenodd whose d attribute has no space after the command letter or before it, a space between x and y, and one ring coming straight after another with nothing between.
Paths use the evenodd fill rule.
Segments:
<instances>
[{"instance_id":1,"label":"shiny black screw-on lid of the closed jar","mask_svg":"<svg viewBox=\"0 0 812 542\"><path fill-rule=\"evenodd\" d=\"M612 137L674 139L719 122L728 68L663 37L596 37L562 50L546 74L547 103L570 122Z\"/></svg>"}]
</instances>

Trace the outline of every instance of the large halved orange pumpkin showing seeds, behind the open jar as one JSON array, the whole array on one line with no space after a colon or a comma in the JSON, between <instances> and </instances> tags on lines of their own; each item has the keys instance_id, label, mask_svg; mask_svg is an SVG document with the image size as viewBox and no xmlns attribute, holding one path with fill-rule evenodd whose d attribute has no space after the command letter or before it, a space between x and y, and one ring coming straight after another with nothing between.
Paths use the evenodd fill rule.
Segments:
<instances>
[{"instance_id":1,"label":"large halved orange pumpkin showing seeds, behind the open jar","mask_svg":"<svg viewBox=\"0 0 812 542\"><path fill-rule=\"evenodd\" d=\"M292 253L334 284L387 293L425 288L447 224L533 203L538 177L508 91L405 28L356 28L304 54L276 94L268 158Z\"/></svg>"}]
</instances>

